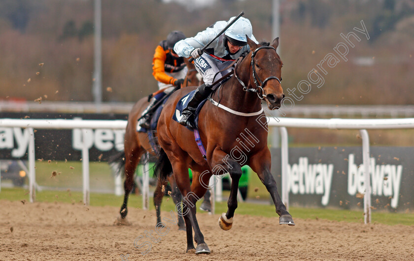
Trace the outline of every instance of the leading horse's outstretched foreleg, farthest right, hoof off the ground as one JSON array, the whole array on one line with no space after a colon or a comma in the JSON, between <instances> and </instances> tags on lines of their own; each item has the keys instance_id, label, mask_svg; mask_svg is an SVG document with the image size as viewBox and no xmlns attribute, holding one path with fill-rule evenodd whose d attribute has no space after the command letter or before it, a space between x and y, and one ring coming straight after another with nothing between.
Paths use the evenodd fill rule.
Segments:
<instances>
[{"instance_id":1,"label":"leading horse's outstretched foreleg, farthest right, hoof off the ground","mask_svg":"<svg viewBox=\"0 0 414 261\"><path fill-rule=\"evenodd\" d=\"M269 150L264 150L263 152L250 157L249 162L250 168L257 173L275 203L276 213L279 215L279 224L294 226L295 223L293 222L292 216L286 210L286 206L280 199L277 191L276 180L270 172L271 157Z\"/></svg>"}]
</instances>

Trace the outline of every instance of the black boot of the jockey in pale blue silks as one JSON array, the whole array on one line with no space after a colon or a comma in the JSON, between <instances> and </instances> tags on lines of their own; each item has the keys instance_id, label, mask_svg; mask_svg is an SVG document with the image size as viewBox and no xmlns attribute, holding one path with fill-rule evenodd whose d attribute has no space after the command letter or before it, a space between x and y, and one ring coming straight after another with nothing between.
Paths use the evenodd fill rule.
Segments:
<instances>
[{"instance_id":1,"label":"black boot of the jockey in pale blue silks","mask_svg":"<svg viewBox=\"0 0 414 261\"><path fill-rule=\"evenodd\" d=\"M179 124L183 126L187 126L190 129L195 128L195 115L198 105L210 95L213 91L211 89L211 85L209 84L202 84L200 87L196 89L194 92L193 97L190 98L190 101L187 103L187 107L182 110L182 117Z\"/></svg>"}]
</instances>

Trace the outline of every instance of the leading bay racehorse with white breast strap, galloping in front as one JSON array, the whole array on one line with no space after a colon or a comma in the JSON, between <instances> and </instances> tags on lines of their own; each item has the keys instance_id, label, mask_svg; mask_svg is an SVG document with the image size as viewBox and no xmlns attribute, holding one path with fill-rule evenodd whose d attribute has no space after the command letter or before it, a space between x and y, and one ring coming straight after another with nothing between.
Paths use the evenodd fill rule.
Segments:
<instances>
[{"instance_id":1,"label":"leading bay racehorse with white breast strap, galloping in front","mask_svg":"<svg viewBox=\"0 0 414 261\"><path fill-rule=\"evenodd\" d=\"M272 44L256 44L247 37L247 43L250 53L239 58L233 76L216 89L211 95L212 100L207 101L200 111L198 130L206 148L207 160L192 138L193 131L172 119L178 101L194 87L174 92L158 121L158 142L162 149L155 174L164 179L173 174L184 196L178 209L182 209L186 225L187 251L194 249L194 229L196 254L210 253L197 222L195 204L206 193L212 174L229 172L232 178L228 210L219 218L223 230L229 230L233 224L243 165L250 166L266 186L275 203L279 224L295 225L280 199L276 181L270 172L268 126L261 107L261 100L264 99L270 110L280 108L284 98L280 84L282 61L276 53L278 38ZM223 106L225 109L222 109ZM188 168L193 170L191 186Z\"/></svg>"}]
</instances>

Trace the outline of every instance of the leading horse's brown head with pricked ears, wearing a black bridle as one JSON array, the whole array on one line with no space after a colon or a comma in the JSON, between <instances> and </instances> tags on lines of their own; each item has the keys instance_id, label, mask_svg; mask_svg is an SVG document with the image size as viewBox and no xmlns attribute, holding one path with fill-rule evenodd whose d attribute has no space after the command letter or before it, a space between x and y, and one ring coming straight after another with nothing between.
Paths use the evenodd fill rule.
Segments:
<instances>
[{"instance_id":1,"label":"leading horse's brown head with pricked ears, wearing a black bridle","mask_svg":"<svg viewBox=\"0 0 414 261\"><path fill-rule=\"evenodd\" d=\"M280 81L282 61L276 53L279 37L269 44L256 44L247 37L251 50L250 84L257 89L260 98L266 99L270 110L279 109L284 98Z\"/></svg>"}]
</instances>

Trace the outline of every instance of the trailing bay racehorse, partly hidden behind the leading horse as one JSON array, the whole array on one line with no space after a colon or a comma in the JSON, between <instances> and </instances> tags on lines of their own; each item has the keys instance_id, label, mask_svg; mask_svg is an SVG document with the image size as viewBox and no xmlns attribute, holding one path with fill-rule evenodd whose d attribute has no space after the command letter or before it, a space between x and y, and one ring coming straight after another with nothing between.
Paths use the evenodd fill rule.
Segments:
<instances>
[{"instance_id":1,"label":"trailing bay racehorse, partly hidden behind the leading horse","mask_svg":"<svg viewBox=\"0 0 414 261\"><path fill-rule=\"evenodd\" d=\"M188 59L184 59L187 65L187 75L184 79L182 87L187 86L198 86L200 85L199 75L195 69L193 63L189 62ZM150 154L155 156L155 152L150 145L150 139L148 138L147 133L145 132L137 132L137 122L138 118L141 116L142 112L148 106L149 102L147 97L141 98L136 102L131 109L131 112L128 115L128 124L125 130L125 137L124 137L124 151L119 153L112 162L117 161L121 164L119 167L124 168L125 174L125 182L124 182L124 202L122 203L120 216L117 218L118 225L129 225L127 220L128 214L128 198L129 194L131 193L134 187L134 174L137 168L137 165L145 152L149 152ZM155 134L156 135L156 134ZM120 168L121 169L121 168ZM187 170L188 175L188 170ZM161 222L161 202L164 196L165 190L167 189L167 183L170 182L172 193L171 196L173 198L174 203L178 203L181 201L181 193L176 187L175 179L171 176L168 179L157 179L156 189L154 191L154 205L157 212L157 224ZM178 227L181 230L184 230L184 220L181 216L178 216Z\"/></svg>"}]
</instances>

